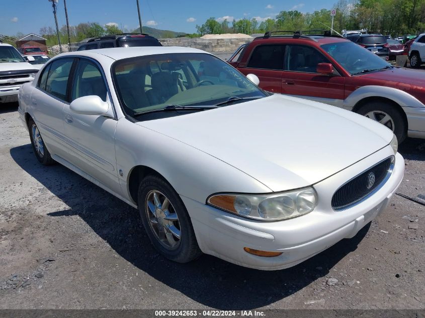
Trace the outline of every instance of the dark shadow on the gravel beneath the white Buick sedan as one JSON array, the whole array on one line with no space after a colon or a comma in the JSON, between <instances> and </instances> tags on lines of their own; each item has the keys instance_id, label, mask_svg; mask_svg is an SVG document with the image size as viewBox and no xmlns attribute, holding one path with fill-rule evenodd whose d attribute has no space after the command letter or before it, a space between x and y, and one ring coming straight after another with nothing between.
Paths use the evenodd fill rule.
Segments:
<instances>
[{"instance_id":1,"label":"dark shadow on the gravel beneath the white Buick sedan","mask_svg":"<svg viewBox=\"0 0 425 318\"><path fill-rule=\"evenodd\" d=\"M254 270L209 255L178 264L155 252L138 211L133 207L62 165L42 166L34 157L30 144L12 148L10 154L22 169L70 207L48 216L78 215L126 261L193 300L214 308L263 307L294 294L317 279L336 275L329 270L357 249L370 227L369 224L354 238L343 240L284 270Z\"/></svg>"}]
</instances>

